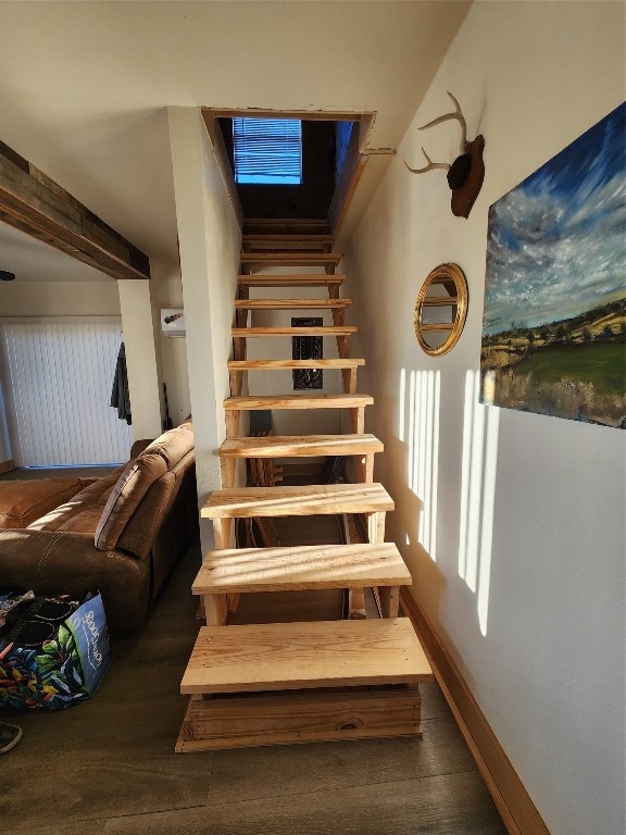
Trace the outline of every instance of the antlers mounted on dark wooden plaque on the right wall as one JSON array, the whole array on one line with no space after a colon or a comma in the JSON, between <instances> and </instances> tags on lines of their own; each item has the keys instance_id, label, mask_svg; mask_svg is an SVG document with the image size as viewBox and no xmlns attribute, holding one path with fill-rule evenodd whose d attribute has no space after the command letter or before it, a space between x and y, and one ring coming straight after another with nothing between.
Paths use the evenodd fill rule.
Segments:
<instances>
[{"instance_id":1,"label":"antlers mounted on dark wooden plaque on the right wall","mask_svg":"<svg viewBox=\"0 0 626 835\"><path fill-rule=\"evenodd\" d=\"M452 190L452 214L456 215L456 217L468 217L472 207L480 194L480 188L483 187L483 180L485 178L485 163L483 162L485 139L481 135L478 135L471 142L467 141L467 125L461 111L461 105L451 92L447 92L454 102L454 113L445 113L442 116L434 119L431 122L422 125L422 127L417 129L425 130L427 127L440 125L442 122L448 122L451 119L458 120L461 124L462 132L461 154L456 157L452 163L433 162L424 148L422 148L422 153L426 157L428 165L423 169L412 169L406 161L404 161L404 165L406 165L409 171L413 174L425 174L427 171L433 171L434 169L445 169L448 172L448 185Z\"/></svg>"}]
</instances>

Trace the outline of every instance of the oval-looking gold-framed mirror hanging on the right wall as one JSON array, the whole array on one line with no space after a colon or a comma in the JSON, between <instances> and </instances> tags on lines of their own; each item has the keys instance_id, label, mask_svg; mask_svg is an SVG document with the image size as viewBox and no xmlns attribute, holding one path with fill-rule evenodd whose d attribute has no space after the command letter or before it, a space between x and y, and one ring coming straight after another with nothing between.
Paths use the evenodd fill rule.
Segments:
<instances>
[{"instance_id":1,"label":"oval-looking gold-framed mirror hanging on the right wall","mask_svg":"<svg viewBox=\"0 0 626 835\"><path fill-rule=\"evenodd\" d=\"M415 302L415 336L430 357L448 353L467 315L467 282L458 264L439 264L428 274Z\"/></svg>"}]
</instances>

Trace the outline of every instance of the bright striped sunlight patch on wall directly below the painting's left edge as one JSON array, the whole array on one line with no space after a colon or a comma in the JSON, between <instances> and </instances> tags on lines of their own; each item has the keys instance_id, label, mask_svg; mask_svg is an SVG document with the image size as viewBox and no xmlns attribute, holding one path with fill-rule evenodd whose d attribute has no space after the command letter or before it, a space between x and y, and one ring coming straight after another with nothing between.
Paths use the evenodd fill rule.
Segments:
<instances>
[{"instance_id":1,"label":"bright striped sunlight patch on wall directly below the painting's left edge","mask_svg":"<svg viewBox=\"0 0 626 835\"><path fill-rule=\"evenodd\" d=\"M487 634L500 410L478 402L480 374L465 376L459 576L477 595L480 632Z\"/></svg>"}]
</instances>

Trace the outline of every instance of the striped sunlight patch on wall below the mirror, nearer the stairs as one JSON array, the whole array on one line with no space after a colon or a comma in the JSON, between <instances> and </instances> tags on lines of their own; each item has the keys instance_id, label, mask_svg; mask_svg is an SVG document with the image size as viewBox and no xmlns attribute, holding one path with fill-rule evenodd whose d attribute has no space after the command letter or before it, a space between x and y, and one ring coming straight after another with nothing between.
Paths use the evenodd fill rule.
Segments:
<instances>
[{"instance_id":1,"label":"striped sunlight patch on wall below the mirror, nearer the stairs","mask_svg":"<svg viewBox=\"0 0 626 835\"><path fill-rule=\"evenodd\" d=\"M409 488L422 502L418 541L437 559L437 484L439 476L439 371L411 371L406 397L406 372L400 372L398 436L409 446ZM406 415L408 412L408 415ZM405 437L406 418L409 424Z\"/></svg>"}]
</instances>

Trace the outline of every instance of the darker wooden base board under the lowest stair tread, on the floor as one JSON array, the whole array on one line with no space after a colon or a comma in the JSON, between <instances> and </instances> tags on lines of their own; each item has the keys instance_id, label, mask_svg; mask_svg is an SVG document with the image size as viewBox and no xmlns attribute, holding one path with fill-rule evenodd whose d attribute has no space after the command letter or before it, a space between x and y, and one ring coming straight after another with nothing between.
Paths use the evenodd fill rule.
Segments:
<instances>
[{"instance_id":1,"label":"darker wooden base board under the lowest stair tread, on the floor","mask_svg":"<svg viewBox=\"0 0 626 835\"><path fill-rule=\"evenodd\" d=\"M421 736L417 685L192 696L177 753L385 736Z\"/></svg>"}]
</instances>

